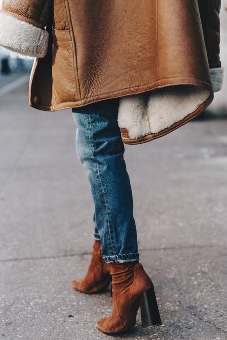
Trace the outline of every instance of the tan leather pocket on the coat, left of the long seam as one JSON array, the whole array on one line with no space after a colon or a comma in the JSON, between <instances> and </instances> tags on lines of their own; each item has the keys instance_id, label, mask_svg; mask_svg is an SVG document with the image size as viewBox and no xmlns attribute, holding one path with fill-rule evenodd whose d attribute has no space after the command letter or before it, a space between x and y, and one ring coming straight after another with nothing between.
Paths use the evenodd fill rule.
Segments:
<instances>
[{"instance_id":1,"label":"tan leather pocket on the coat, left of the long seam","mask_svg":"<svg viewBox=\"0 0 227 340\"><path fill-rule=\"evenodd\" d=\"M76 102L79 96L76 89L74 49L71 33L52 28L53 61L52 77L55 105L65 102Z\"/></svg>"}]
</instances>

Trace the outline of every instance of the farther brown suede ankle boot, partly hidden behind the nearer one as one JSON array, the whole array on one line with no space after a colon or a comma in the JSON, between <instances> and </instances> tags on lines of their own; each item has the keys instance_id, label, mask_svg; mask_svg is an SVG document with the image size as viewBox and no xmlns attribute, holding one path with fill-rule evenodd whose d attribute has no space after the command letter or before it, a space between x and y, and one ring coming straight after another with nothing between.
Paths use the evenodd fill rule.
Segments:
<instances>
[{"instance_id":1,"label":"farther brown suede ankle boot, partly hidden behind the nearer one","mask_svg":"<svg viewBox=\"0 0 227 340\"><path fill-rule=\"evenodd\" d=\"M111 282L111 267L101 253L101 242L95 240L91 262L84 278L77 278L71 282L72 286L83 293L98 293L106 289Z\"/></svg>"}]
</instances>

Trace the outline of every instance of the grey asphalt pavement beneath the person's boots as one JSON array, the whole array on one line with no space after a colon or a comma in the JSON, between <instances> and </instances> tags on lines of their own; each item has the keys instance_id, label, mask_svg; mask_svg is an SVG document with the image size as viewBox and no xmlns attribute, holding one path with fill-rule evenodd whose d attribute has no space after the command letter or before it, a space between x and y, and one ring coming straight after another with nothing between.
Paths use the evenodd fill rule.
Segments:
<instances>
[{"instance_id":1,"label":"grey asphalt pavement beneath the person's boots","mask_svg":"<svg viewBox=\"0 0 227 340\"><path fill-rule=\"evenodd\" d=\"M163 325L106 336L107 291L71 288L93 243L93 203L70 110L0 98L0 339L226 340L227 121L194 121L126 147L141 262Z\"/></svg>"}]
</instances>

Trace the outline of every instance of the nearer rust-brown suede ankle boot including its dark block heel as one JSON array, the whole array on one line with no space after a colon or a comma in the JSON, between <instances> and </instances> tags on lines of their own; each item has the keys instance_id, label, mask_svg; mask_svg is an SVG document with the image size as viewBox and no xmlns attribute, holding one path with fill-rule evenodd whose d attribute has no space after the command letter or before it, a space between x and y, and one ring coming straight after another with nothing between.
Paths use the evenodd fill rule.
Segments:
<instances>
[{"instance_id":1,"label":"nearer rust-brown suede ankle boot including its dark block heel","mask_svg":"<svg viewBox=\"0 0 227 340\"><path fill-rule=\"evenodd\" d=\"M134 327L139 306L143 327L161 325L153 283L139 261L111 264L111 275L112 316L99 320L98 329L104 333L117 333Z\"/></svg>"}]
</instances>

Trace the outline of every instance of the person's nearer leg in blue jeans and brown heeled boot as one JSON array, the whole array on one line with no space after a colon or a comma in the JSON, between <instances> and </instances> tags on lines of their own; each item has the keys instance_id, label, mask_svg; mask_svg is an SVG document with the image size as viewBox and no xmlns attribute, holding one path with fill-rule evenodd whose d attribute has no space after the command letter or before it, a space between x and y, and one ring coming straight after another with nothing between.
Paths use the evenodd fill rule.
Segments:
<instances>
[{"instance_id":1,"label":"person's nearer leg in blue jeans and brown heeled boot","mask_svg":"<svg viewBox=\"0 0 227 340\"><path fill-rule=\"evenodd\" d=\"M132 192L117 113L118 100L97 102L73 113L77 155L88 169L95 204L95 236L101 239L113 285L112 315L96 325L111 334L133 327L139 306L143 326L161 324L153 284L138 261Z\"/></svg>"}]
</instances>

